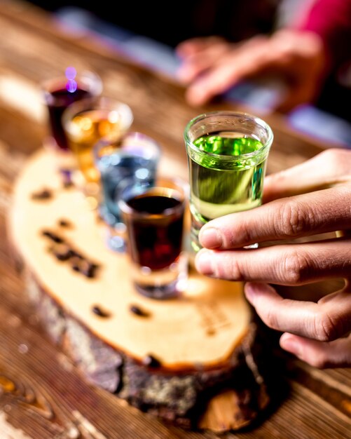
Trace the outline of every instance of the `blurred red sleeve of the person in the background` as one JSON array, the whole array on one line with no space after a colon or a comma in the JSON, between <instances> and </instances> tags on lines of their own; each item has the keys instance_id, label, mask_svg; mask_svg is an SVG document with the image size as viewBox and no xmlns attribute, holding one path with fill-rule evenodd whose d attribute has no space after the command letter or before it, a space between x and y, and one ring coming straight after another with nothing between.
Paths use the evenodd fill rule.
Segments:
<instances>
[{"instance_id":1,"label":"blurred red sleeve of the person in the background","mask_svg":"<svg viewBox=\"0 0 351 439\"><path fill-rule=\"evenodd\" d=\"M321 36L330 67L351 58L351 0L316 0L295 28Z\"/></svg>"}]
</instances>

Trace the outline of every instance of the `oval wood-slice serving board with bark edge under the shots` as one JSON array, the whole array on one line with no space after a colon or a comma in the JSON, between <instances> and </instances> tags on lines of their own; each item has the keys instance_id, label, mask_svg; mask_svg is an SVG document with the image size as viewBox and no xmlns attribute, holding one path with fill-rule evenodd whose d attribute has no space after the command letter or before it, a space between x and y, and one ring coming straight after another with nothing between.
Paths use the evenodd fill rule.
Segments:
<instances>
[{"instance_id":1,"label":"oval wood-slice serving board with bark edge under the shots","mask_svg":"<svg viewBox=\"0 0 351 439\"><path fill-rule=\"evenodd\" d=\"M190 269L182 297L139 295L128 255L44 149L15 184L8 236L48 334L94 384L185 428L238 429L268 405L242 284Z\"/></svg>"}]
</instances>

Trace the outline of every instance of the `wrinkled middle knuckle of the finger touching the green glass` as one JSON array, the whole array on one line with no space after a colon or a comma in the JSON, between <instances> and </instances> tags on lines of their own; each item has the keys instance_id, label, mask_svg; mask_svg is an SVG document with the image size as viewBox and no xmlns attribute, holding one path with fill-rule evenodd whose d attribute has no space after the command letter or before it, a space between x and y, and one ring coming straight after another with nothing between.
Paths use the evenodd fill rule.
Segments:
<instances>
[{"instance_id":1,"label":"wrinkled middle knuckle of the finger touching the green glass","mask_svg":"<svg viewBox=\"0 0 351 439\"><path fill-rule=\"evenodd\" d=\"M279 222L276 227L284 236L292 238L301 235L303 231L313 229L314 217L310 206L301 205L297 201L289 201L282 205L280 215L277 215L275 219Z\"/></svg>"}]
</instances>

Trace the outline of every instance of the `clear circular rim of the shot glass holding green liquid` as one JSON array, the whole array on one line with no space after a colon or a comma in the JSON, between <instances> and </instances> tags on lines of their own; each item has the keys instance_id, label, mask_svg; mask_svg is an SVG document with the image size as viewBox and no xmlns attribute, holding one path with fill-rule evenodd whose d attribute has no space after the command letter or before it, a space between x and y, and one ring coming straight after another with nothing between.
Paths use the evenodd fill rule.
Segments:
<instances>
[{"instance_id":1,"label":"clear circular rim of the shot glass holding green liquid","mask_svg":"<svg viewBox=\"0 0 351 439\"><path fill-rule=\"evenodd\" d=\"M252 121L254 121L255 123L257 123L259 126L261 126L262 128L264 128L266 130L266 132L268 133L268 139L266 140L266 142L264 142L263 146L259 149L256 149L255 151L252 152L248 152L246 154L240 154L238 156L234 156L234 155L226 155L226 154L214 154L212 152L205 152L205 151L201 151L200 149L198 149L198 147L195 146L195 144L193 144L193 141L191 140L191 138L188 135L188 132L190 130L190 128L198 121L201 121L202 119L206 119L209 116L240 116L240 117L245 117L247 119L251 119ZM261 154L263 151L265 151L266 149L269 149L270 146L273 143L273 130L272 128L270 128L270 126L268 125L268 123L266 121L263 121L263 119L261 119L259 116L255 116L254 114L251 113L247 113L247 112L237 112L237 111L230 111L230 110L214 110L213 112L206 112L206 113L202 113L202 114L198 114L198 116L193 117L193 119L191 119L190 121L188 121L188 123L186 124L186 127L184 128L184 140L186 142L186 145L190 146L191 149L195 152L197 152L198 154L203 154L205 156L211 156L213 158L222 158L222 160L235 160L238 158L252 158L255 157L259 154ZM261 140L260 140L261 142Z\"/></svg>"}]
</instances>

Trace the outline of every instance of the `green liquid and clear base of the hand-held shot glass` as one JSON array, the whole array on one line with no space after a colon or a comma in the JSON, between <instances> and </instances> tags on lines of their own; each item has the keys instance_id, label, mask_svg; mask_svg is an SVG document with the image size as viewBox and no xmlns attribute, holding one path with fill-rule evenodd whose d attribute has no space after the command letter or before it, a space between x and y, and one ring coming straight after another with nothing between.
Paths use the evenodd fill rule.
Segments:
<instances>
[{"instance_id":1,"label":"green liquid and clear base of the hand-held shot glass","mask_svg":"<svg viewBox=\"0 0 351 439\"><path fill-rule=\"evenodd\" d=\"M263 144L252 137L238 137L238 133L212 133L199 137L193 144L198 151L188 158L191 245L198 251L198 232L203 224L261 204L266 154L242 156L263 149ZM216 157L219 154L229 157L223 161L222 157Z\"/></svg>"}]
</instances>

